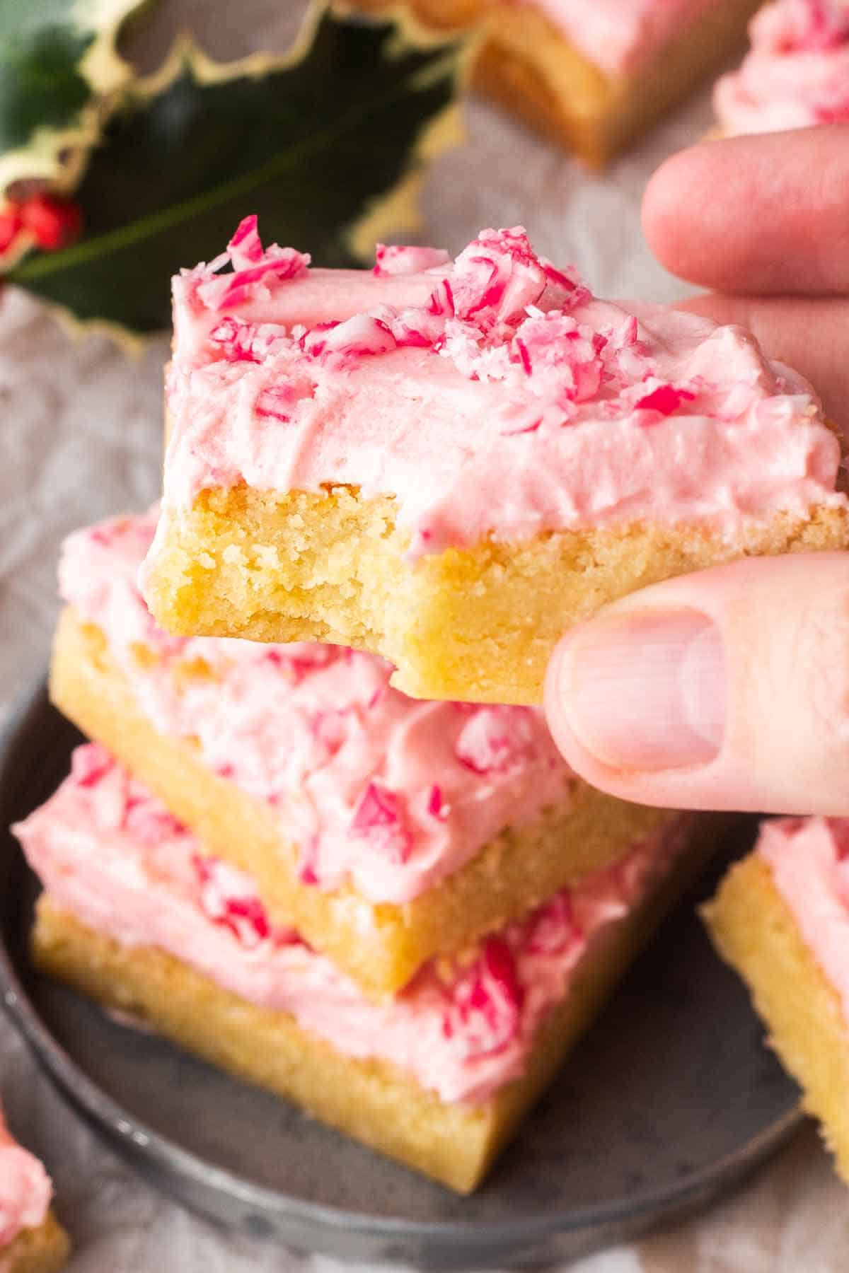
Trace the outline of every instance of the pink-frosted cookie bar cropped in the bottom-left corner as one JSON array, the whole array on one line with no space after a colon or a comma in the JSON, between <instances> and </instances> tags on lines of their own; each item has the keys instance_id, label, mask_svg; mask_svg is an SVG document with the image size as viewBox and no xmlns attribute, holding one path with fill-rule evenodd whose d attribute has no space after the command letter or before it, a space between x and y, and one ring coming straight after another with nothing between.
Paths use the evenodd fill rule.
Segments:
<instances>
[{"instance_id":1,"label":"pink-frosted cookie bar cropped in the bottom-left corner","mask_svg":"<svg viewBox=\"0 0 849 1273\"><path fill-rule=\"evenodd\" d=\"M0 1269L57 1273L67 1235L50 1209L53 1186L43 1165L18 1144L0 1110Z\"/></svg>"}]
</instances>

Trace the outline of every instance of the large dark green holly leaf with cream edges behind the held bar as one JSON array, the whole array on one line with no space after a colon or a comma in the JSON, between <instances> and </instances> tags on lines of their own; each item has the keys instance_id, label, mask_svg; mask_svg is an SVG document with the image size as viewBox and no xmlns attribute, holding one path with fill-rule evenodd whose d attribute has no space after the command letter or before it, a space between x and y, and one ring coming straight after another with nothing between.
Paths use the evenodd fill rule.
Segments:
<instances>
[{"instance_id":1,"label":"large dark green holly leaf with cream edges behind the held bar","mask_svg":"<svg viewBox=\"0 0 849 1273\"><path fill-rule=\"evenodd\" d=\"M216 256L246 213L317 265L363 264L414 224L423 162L458 135L463 69L457 41L325 6L283 59L221 65L183 42L107 122L74 195L83 238L9 278L141 334L168 323L168 276Z\"/></svg>"}]
</instances>

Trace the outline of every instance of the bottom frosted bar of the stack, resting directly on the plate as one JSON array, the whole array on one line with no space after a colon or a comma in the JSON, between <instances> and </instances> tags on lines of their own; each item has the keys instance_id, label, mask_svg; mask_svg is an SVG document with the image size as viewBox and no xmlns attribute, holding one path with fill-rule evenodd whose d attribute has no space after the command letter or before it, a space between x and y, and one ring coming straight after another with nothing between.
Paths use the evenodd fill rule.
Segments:
<instances>
[{"instance_id":1,"label":"bottom frosted bar of the stack, resting directly on the plate","mask_svg":"<svg viewBox=\"0 0 849 1273\"><path fill-rule=\"evenodd\" d=\"M78 749L15 830L46 889L43 969L461 1190L586 1023L686 843L678 820L373 1003L101 747Z\"/></svg>"}]
</instances>

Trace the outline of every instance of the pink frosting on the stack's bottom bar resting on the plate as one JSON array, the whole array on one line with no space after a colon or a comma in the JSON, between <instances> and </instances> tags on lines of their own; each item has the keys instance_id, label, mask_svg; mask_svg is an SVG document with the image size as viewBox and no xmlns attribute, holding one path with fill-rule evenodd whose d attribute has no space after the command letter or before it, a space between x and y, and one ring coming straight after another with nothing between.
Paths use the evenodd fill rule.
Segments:
<instances>
[{"instance_id":1,"label":"pink frosting on the stack's bottom bar resting on the plate","mask_svg":"<svg viewBox=\"0 0 849 1273\"><path fill-rule=\"evenodd\" d=\"M421 969L373 1003L293 929L274 928L248 876L214 858L102 747L15 829L56 905L125 946L157 946L234 994L291 1013L349 1057L375 1057L446 1101L486 1100L518 1077L540 1022L603 931L684 844L684 825L558 894L462 960Z\"/></svg>"}]
</instances>

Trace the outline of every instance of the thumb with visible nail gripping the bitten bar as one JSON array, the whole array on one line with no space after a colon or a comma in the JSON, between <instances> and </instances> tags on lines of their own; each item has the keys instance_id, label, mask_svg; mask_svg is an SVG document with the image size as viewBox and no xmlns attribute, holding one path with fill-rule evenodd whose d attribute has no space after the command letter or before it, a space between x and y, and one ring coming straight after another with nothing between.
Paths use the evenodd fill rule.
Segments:
<instances>
[{"instance_id":1,"label":"thumb with visible nail gripping the bitten bar","mask_svg":"<svg viewBox=\"0 0 849 1273\"><path fill-rule=\"evenodd\" d=\"M607 606L558 645L554 737L673 808L849 813L849 552L751 558Z\"/></svg>"}]
</instances>

